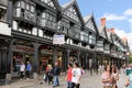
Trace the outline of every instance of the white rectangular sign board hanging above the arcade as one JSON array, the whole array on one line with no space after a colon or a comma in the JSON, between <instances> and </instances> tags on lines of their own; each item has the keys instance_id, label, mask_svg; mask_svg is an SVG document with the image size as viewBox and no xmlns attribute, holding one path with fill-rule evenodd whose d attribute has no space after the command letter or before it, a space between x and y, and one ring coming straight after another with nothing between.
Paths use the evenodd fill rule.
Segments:
<instances>
[{"instance_id":1,"label":"white rectangular sign board hanging above the arcade","mask_svg":"<svg viewBox=\"0 0 132 88\"><path fill-rule=\"evenodd\" d=\"M54 34L53 44L65 44L65 35L64 34Z\"/></svg>"}]
</instances>

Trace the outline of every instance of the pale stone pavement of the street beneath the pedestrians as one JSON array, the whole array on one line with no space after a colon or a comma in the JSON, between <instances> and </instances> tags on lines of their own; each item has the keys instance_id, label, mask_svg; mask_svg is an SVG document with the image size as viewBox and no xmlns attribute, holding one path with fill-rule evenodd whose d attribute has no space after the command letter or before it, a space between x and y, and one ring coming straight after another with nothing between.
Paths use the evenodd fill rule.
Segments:
<instances>
[{"instance_id":1,"label":"pale stone pavement of the street beneath the pedestrians","mask_svg":"<svg viewBox=\"0 0 132 88\"><path fill-rule=\"evenodd\" d=\"M120 79L118 81L118 88L125 88L124 81L127 80L125 74L120 74ZM65 75L59 76L61 85L56 88L66 88ZM53 88L52 85L47 85L43 80L43 76L40 75L37 79L15 79L10 85L0 86L0 88ZM90 75L89 72L81 77L80 88L102 88L101 75Z\"/></svg>"}]
</instances>

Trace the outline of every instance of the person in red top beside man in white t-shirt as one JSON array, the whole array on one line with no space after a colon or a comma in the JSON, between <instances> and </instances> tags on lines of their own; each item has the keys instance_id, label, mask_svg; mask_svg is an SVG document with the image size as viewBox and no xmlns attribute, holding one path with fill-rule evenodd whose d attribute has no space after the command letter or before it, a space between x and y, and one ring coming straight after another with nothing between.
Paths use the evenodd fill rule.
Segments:
<instances>
[{"instance_id":1,"label":"person in red top beside man in white t-shirt","mask_svg":"<svg viewBox=\"0 0 132 88\"><path fill-rule=\"evenodd\" d=\"M73 64L68 64L68 70L66 75L66 80L67 80L67 88L72 88L72 70L73 70Z\"/></svg>"}]
</instances>

